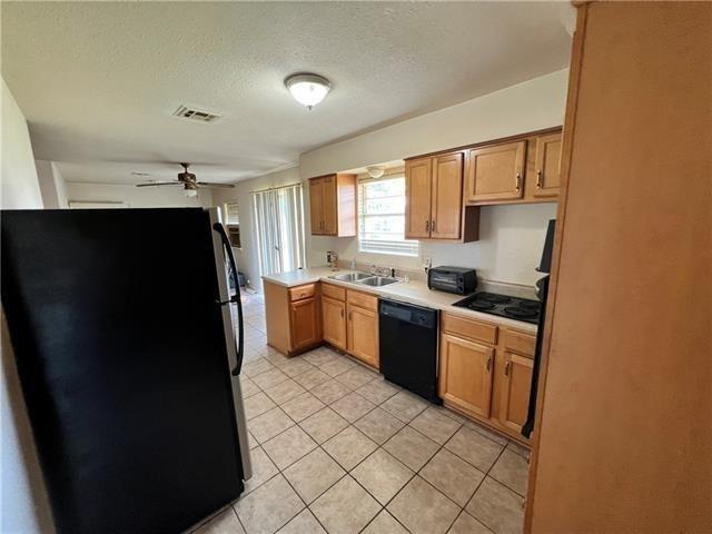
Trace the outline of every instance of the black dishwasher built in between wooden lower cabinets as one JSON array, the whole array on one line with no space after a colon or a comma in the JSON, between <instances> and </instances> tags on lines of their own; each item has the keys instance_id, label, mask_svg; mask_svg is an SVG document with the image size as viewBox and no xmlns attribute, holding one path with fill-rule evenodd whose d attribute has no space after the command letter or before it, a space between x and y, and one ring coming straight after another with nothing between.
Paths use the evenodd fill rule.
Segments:
<instances>
[{"instance_id":1,"label":"black dishwasher built in between wooden lower cabinets","mask_svg":"<svg viewBox=\"0 0 712 534\"><path fill-rule=\"evenodd\" d=\"M437 396L436 309L380 299L378 327L380 373L432 403Z\"/></svg>"}]
</instances>

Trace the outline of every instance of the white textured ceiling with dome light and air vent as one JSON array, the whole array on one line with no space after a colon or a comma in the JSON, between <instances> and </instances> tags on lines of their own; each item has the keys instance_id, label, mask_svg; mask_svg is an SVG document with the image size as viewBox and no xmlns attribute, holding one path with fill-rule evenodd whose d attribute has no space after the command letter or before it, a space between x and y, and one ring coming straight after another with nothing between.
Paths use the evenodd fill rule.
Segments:
<instances>
[{"instance_id":1,"label":"white textured ceiling with dome light and air vent","mask_svg":"<svg viewBox=\"0 0 712 534\"><path fill-rule=\"evenodd\" d=\"M566 2L567 3L567 2ZM7 2L2 76L70 181L233 181L567 65L556 2ZM314 110L283 85L315 71ZM216 123L170 117L180 103Z\"/></svg>"}]
</instances>

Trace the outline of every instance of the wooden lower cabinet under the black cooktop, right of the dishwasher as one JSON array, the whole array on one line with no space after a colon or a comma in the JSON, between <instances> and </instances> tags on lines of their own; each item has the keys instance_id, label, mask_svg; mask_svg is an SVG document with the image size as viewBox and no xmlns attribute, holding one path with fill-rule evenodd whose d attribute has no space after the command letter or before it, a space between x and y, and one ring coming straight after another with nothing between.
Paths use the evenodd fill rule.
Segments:
<instances>
[{"instance_id":1,"label":"wooden lower cabinet under the black cooktop, right of the dishwasher","mask_svg":"<svg viewBox=\"0 0 712 534\"><path fill-rule=\"evenodd\" d=\"M439 395L446 406L515 439L526 421L535 336L443 314Z\"/></svg>"}]
</instances>

